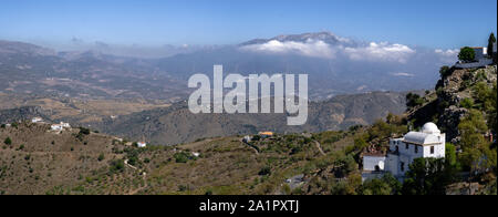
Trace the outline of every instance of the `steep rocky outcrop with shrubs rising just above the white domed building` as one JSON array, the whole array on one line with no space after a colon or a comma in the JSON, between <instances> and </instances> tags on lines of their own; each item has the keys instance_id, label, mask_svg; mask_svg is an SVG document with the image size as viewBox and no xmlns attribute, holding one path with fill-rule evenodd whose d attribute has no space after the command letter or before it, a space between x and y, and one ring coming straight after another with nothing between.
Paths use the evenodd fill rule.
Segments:
<instances>
[{"instance_id":1,"label":"steep rocky outcrop with shrubs rising just above the white domed building","mask_svg":"<svg viewBox=\"0 0 498 217\"><path fill-rule=\"evenodd\" d=\"M492 92L494 86L496 92L497 69L496 65L467 70L443 68L440 73L436 91L424 96L422 105L412 107L407 112L407 120L414 127L421 127L427 122L437 123L446 132L447 141L457 143L460 134L458 125L470 110L478 110L485 116L491 115L487 113L492 110L492 105L485 104L484 97Z\"/></svg>"}]
</instances>

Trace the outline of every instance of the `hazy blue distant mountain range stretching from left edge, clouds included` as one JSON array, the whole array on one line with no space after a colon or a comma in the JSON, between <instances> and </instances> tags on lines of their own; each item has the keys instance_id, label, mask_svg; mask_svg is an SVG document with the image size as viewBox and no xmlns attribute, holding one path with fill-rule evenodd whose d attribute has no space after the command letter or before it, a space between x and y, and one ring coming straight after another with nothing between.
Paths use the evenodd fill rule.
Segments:
<instances>
[{"instance_id":1,"label":"hazy blue distant mountain range stretching from left edge, clouds included","mask_svg":"<svg viewBox=\"0 0 498 217\"><path fill-rule=\"evenodd\" d=\"M194 73L309 74L311 100L372 91L430 89L438 68L456 52L388 42L363 42L331 32L287 34L234 45L211 45L166 58L123 58L106 46L53 51L22 42L0 42L1 92L73 97L179 101ZM168 49L169 46L164 46ZM66 81L72 81L71 84Z\"/></svg>"}]
</instances>

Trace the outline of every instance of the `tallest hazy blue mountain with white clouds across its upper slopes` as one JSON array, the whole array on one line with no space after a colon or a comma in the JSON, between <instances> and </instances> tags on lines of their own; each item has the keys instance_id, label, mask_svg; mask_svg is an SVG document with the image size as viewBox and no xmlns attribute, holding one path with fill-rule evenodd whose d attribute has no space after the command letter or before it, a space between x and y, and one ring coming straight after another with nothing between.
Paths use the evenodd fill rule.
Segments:
<instances>
[{"instance_id":1,"label":"tallest hazy blue mountain with white clouds across its upper slopes","mask_svg":"<svg viewBox=\"0 0 498 217\"><path fill-rule=\"evenodd\" d=\"M439 68L457 61L456 50L396 42L364 42L331 32L278 35L237 45L165 58L158 68L188 79L212 74L309 74L310 99L371 91L432 89Z\"/></svg>"}]
</instances>

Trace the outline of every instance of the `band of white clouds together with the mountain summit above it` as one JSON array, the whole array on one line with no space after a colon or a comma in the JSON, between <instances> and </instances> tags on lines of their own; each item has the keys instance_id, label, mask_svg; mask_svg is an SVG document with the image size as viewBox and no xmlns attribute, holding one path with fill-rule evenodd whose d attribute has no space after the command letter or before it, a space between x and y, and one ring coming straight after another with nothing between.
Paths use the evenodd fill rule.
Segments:
<instances>
[{"instance_id":1,"label":"band of white clouds together with the mountain summit above it","mask_svg":"<svg viewBox=\"0 0 498 217\"><path fill-rule=\"evenodd\" d=\"M307 39L305 39L307 38ZM351 39L340 38L329 32L317 34L302 34L299 37L278 37L270 40L256 40L240 46L242 51L272 53L272 54L300 54L311 58L340 59L370 62L407 63L418 52L415 48L390 42L355 42ZM427 49L422 49L422 54L427 54ZM434 51L442 62L456 60L459 50Z\"/></svg>"}]
</instances>

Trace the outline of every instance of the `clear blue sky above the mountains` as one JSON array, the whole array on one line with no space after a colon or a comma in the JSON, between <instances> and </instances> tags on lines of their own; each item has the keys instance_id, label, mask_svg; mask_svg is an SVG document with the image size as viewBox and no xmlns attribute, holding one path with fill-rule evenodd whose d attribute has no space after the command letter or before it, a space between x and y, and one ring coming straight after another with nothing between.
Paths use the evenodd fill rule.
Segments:
<instances>
[{"instance_id":1,"label":"clear blue sky above the mountains","mask_svg":"<svg viewBox=\"0 0 498 217\"><path fill-rule=\"evenodd\" d=\"M331 31L428 48L486 45L496 0L2 0L0 39L234 44Z\"/></svg>"}]
</instances>

